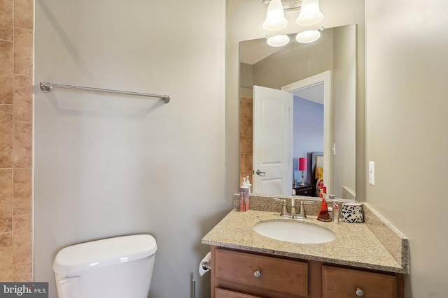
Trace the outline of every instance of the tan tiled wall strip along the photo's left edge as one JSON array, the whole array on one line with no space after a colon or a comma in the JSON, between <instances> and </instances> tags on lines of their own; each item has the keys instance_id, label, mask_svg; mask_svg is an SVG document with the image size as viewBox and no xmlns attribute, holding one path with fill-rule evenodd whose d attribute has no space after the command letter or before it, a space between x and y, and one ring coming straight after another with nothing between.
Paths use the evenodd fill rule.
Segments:
<instances>
[{"instance_id":1,"label":"tan tiled wall strip along the photo's left edge","mask_svg":"<svg viewBox=\"0 0 448 298\"><path fill-rule=\"evenodd\" d=\"M34 0L0 0L0 281L32 281Z\"/></svg>"}]
</instances>

